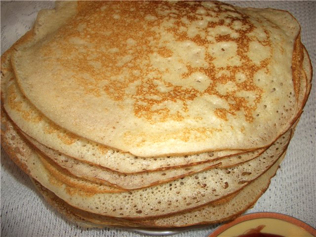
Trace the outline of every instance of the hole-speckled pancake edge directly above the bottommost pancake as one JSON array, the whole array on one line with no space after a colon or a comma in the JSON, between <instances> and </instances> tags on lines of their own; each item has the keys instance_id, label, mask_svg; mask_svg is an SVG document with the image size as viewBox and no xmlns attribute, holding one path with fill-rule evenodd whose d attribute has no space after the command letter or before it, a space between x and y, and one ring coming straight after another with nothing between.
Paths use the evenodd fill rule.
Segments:
<instances>
[{"instance_id":1,"label":"hole-speckled pancake edge directly above the bottommost pancake","mask_svg":"<svg viewBox=\"0 0 316 237\"><path fill-rule=\"evenodd\" d=\"M124 192L105 185L98 189L90 182L80 179L78 183L72 176L67 178L67 174L52 172L41 155L18 135L10 121L4 116L1 119L10 153L15 154L20 167L41 185L79 209L128 218L176 213L234 194L272 167L284 154L291 137L290 129L262 156L235 167L213 168L166 184Z\"/></svg>"}]
</instances>

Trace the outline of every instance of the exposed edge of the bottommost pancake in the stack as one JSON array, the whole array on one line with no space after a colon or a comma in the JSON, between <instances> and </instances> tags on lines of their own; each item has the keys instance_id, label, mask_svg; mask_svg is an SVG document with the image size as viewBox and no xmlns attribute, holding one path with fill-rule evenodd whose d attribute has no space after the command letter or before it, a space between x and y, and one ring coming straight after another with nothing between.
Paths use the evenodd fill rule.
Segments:
<instances>
[{"instance_id":1,"label":"exposed edge of the bottommost pancake in the stack","mask_svg":"<svg viewBox=\"0 0 316 237\"><path fill-rule=\"evenodd\" d=\"M40 183L36 182L35 180L34 181L36 187L39 189L40 193L45 197L45 199L53 206L55 206L61 213L66 215L68 219L80 217L82 218L81 221L84 220L86 222L90 222L90 227L102 227L99 225L136 226L137 224L143 225L143 227L183 227L191 225L210 224L217 222L218 220L225 221L226 219L231 218L232 215L238 215L239 213L243 212L246 208L251 206L256 201L256 199L260 197L268 188L270 184L270 179L272 178L272 176L275 175L278 165L284 155L279 158L277 162L258 179L247 185L244 189L238 192L237 195L232 195L232 197L226 198L225 201L220 200L218 202L213 202L194 210L180 212L178 214L173 214L170 216L145 218L138 220L129 219L129 221L124 218L111 218L108 216L97 215L74 208L59 197L55 196L49 190L45 189L43 186L40 185ZM81 225L83 224L80 223L80 221L78 220L73 221L76 221L76 223L79 223Z\"/></svg>"}]
</instances>

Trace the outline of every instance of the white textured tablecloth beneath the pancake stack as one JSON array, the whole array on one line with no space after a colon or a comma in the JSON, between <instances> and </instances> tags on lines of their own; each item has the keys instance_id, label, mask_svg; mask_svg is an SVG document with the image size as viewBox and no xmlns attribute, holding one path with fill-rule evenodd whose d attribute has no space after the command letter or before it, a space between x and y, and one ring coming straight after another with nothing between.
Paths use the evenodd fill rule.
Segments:
<instances>
[{"instance_id":1,"label":"white textured tablecloth beneath the pancake stack","mask_svg":"<svg viewBox=\"0 0 316 237\"><path fill-rule=\"evenodd\" d=\"M288 10L302 27L302 41L316 70L316 1L230 1L238 6ZM1 53L33 25L38 10L51 1L1 1ZM313 83L315 83L315 75ZM249 212L272 211L294 216L316 227L316 88L300 119L281 168L267 192ZM215 226L193 228L174 237L207 236ZM124 229L80 229L63 219L37 193L1 148L1 236L7 237L141 237Z\"/></svg>"}]
</instances>

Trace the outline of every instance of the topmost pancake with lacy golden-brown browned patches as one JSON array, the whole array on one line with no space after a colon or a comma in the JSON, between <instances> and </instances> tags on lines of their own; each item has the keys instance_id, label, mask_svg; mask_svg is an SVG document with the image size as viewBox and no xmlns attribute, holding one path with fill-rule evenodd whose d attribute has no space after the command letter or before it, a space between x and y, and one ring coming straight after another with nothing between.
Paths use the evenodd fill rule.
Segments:
<instances>
[{"instance_id":1,"label":"topmost pancake with lacy golden-brown browned patches","mask_svg":"<svg viewBox=\"0 0 316 237\"><path fill-rule=\"evenodd\" d=\"M289 13L199 1L78 4L64 22L63 6L43 12L36 43L12 58L24 95L56 124L150 157L255 149L293 123L300 27Z\"/></svg>"}]
</instances>

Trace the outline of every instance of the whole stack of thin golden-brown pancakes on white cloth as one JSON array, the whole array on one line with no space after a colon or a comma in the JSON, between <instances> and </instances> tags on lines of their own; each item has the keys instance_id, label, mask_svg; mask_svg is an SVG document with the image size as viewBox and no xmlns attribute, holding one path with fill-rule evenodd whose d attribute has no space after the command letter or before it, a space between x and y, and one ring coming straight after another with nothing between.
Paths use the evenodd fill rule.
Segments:
<instances>
[{"instance_id":1,"label":"whole stack of thin golden-brown pancakes on white cloth","mask_svg":"<svg viewBox=\"0 0 316 237\"><path fill-rule=\"evenodd\" d=\"M1 56L1 145L79 225L218 223L268 188L311 79L285 11L56 2Z\"/></svg>"}]
</instances>

